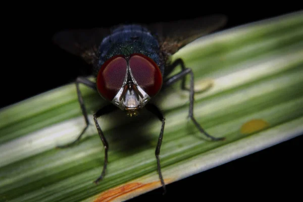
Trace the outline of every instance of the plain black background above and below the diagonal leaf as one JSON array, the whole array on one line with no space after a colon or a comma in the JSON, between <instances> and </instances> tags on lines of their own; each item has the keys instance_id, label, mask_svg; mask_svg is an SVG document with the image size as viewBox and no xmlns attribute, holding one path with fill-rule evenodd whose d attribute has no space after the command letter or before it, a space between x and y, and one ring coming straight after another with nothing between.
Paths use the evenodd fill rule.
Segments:
<instances>
[{"instance_id":1,"label":"plain black background above and below the diagonal leaf","mask_svg":"<svg viewBox=\"0 0 303 202\"><path fill-rule=\"evenodd\" d=\"M125 4L132 6L130 2ZM2 55L5 57L2 58L1 89L5 99L1 99L0 108L73 82L79 74L85 73L83 68L85 70L88 66L81 59L67 54L52 43L52 35L62 29L178 20L214 13L227 15L229 22L225 28L230 28L302 9L297 5L289 6L289 3L287 7L285 4L265 6L265 3L257 5L246 2L221 9L205 4L188 7L177 5L178 8L174 9L153 4L129 10L121 3L114 3L110 6L91 5L85 9L81 9L80 4L77 9L63 8L62 5L38 5L37 9L14 10L11 18L14 16L17 20L13 23L6 20L8 29L3 31L5 37L2 38L6 54ZM145 10L147 6L150 10ZM120 11L118 7L124 10ZM302 142L301 135L172 183L167 186L168 192L164 196L162 189L156 189L132 200L173 200L183 197L187 200L207 200L206 197L244 199L254 196L260 198L263 194L270 198L284 194L287 197L300 196ZM243 193L243 197L239 197L239 193Z\"/></svg>"}]
</instances>

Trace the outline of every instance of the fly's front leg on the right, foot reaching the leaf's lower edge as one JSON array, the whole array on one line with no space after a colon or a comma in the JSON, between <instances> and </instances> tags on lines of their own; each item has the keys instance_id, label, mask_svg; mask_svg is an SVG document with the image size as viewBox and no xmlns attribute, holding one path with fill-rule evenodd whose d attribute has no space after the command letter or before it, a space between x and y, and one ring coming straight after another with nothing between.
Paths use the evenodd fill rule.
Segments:
<instances>
[{"instance_id":1,"label":"fly's front leg on the right, foot reaching the leaf's lower edge","mask_svg":"<svg viewBox=\"0 0 303 202\"><path fill-rule=\"evenodd\" d=\"M165 183L164 183L162 172L161 172L160 157L159 157L160 147L161 147L162 139L163 139L165 117L157 106L155 106L153 104L147 104L145 107L149 112L156 115L160 119L160 121L162 122L161 131L160 131L160 135L159 135L159 138L158 138L158 143L157 143L155 155L156 155L156 159L157 159L157 170L158 170L159 178L160 178L162 187L164 189L163 194L165 194L166 193L166 187L165 187Z\"/></svg>"}]
</instances>

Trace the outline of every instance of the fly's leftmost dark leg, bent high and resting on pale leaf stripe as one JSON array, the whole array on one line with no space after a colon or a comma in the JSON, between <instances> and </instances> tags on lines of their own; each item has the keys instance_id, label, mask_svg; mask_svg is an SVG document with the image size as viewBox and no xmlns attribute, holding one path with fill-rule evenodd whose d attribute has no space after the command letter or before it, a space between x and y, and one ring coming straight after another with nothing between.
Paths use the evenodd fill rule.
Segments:
<instances>
[{"instance_id":1,"label":"fly's leftmost dark leg, bent high and resting on pale leaf stripe","mask_svg":"<svg viewBox=\"0 0 303 202\"><path fill-rule=\"evenodd\" d=\"M78 77L76 79L75 83L76 83L76 88L77 88L78 101L79 101L79 104L80 104L80 107L81 107L81 110L82 110L82 115L84 116L84 119L85 119L86 126L83 128L82 132L80 133L80 135L78 136L78 138L76 140L74 140L73 142L70 142L66 145L57 146L58 148L66 148L66 147L74 145L75 143L78 143L81 136L84 134L84 132L86 131L86 129L88 128L88 125L89 125L87 112L86 112L86 108L84 106L84 102L83 102L82 94L81 94L81 91L80 91L80 88L79 88L79 84L82 83L82 84L86 85L87 87L92 88L94 90L96 90L96 85L95 85L94 82L92 82L92 81L90 81L90 80L88 80L87 78L84 78L84 77Z\"/></svg>"}]
</instances>

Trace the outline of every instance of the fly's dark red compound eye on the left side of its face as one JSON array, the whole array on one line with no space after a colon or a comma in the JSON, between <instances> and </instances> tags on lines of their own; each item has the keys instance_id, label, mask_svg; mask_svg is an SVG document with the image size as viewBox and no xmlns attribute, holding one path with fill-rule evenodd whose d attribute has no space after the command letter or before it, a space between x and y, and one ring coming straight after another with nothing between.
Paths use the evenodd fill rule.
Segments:
<instances>
[{"instance_id":1,"label":"fly's dark red compound eye on the left side of its face","mask_svg":"<svg viewBox=\"0 0 303 202\"><path fill-rule=\"evenodd\" d=\"M97 75L97 89L106 99L112 100L122 87L127 62L123 56L115 56L106 61Z\"/></svg>"}]
</instances>

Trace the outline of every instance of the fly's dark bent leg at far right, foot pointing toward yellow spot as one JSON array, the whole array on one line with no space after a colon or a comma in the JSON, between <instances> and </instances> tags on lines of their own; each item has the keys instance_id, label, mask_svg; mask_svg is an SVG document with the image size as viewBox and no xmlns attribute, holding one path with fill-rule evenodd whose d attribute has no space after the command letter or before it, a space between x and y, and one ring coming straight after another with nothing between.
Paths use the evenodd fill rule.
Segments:
<instances>
[{"instance_id":1,"label":"fly's dark bent leg at far right, foot pointing toward yellow spot","mask_svg":"<svg viewBox=\"0 0 303 202\"><path fill-rule=\"evenodd\" d=\"M214 141L218 141L218 140L224 140L225 137L214 137L210 134L208 134L199 124L198 122L195 120L194 116L193 116L193 95L194 95L194 83L193 83L193 72L190 68L186 68L184 65L184 62L182 59L178 59L176 60L172 65L174 65L175 67L178 65L181 65L181 72L166 79L164 82L164 86L169 86L173 83L175 83L176 81L182 79L182 89L185 89L185 76L187 74L190 75L190 88L189 88L189 118L192 120L192 122L194 123L194 125L197 127L197 129L201 132L204 133L207 137L211 138Z\"/></svg>"}]
</instances>

